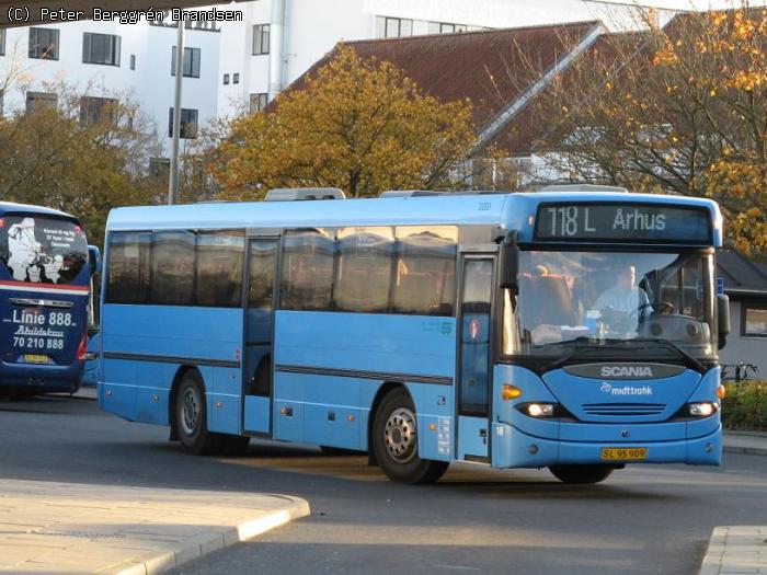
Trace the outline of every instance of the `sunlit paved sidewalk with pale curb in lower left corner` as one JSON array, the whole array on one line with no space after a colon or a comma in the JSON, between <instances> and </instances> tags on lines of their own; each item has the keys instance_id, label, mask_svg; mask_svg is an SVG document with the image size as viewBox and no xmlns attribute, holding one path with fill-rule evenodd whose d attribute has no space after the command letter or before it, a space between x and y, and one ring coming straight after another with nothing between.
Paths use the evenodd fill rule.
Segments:
<instances>
[{"instance_id":1,"label":"sunlit paved sidewalk with pale curb in lower left corner","mask_svg":"<svg viewBox=\"0 0 767 575\"><path fill-rule=\"evenodd\" d=\"M307 515L285 495L0 480L0 573L152 575Z\"/></svg>"}]
</instances>

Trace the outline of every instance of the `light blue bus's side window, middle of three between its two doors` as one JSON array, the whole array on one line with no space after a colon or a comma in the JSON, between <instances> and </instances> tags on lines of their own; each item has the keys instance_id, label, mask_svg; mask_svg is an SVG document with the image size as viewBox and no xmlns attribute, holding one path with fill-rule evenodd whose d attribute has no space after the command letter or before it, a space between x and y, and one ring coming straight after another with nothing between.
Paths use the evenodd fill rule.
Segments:
<instances>
[{"instance_id":1,"label":"light blue bus's side window, middle of three between its two doors","mask_svg":"<svg viewBox=\"0 0 767 575\"><path fill-rule=\"evenodd\" d=\"M333 289L336 310L388 311L393 251L391 228L339 230L339 262Z\"/></svg>"}]
</instances>

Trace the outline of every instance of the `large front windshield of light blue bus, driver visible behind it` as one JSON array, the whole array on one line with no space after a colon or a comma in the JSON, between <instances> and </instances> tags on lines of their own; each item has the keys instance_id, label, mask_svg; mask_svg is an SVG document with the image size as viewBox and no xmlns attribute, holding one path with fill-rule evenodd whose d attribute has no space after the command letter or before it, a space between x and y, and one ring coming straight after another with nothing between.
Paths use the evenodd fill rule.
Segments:
<instances>
[{"instance_id":1,"label":"large front windshield of light blue bus, driver visible behind it","mask_svg":"<svg viewBox=\"0 0 767 575\"><path fill-rule=\"evenodd\" d=\"M699 252L524 251L504 355L711 359L712 269Z\"/></svg>"}]
</instances>

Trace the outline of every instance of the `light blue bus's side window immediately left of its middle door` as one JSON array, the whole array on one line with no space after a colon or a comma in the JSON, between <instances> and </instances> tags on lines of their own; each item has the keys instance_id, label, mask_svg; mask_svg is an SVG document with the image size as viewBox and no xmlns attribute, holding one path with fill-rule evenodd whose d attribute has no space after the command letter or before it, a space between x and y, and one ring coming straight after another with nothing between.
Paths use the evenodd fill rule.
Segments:
<instances>
[{"instance_id":1,"label":"light blue bus's side window immediately left of its middle door","mask_svg":"<svg viewBox=\"0 0 767 575\"><path fill-rule=\"evenodd\" d=\"M244 246L245 239L241 231L197 233L198 306L240 306Z\"/></svg>"}]
</instances>

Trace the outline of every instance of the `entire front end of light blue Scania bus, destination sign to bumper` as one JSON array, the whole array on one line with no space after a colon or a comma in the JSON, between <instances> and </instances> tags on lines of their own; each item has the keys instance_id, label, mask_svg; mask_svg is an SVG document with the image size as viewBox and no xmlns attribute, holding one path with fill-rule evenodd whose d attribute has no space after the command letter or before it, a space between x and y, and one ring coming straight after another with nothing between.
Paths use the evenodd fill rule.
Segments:
<instances>
[{"instance_id":1,"label":"entire front end of light blue Scania bus, destination sign to bumper","mask_svg":"<svg viewBox=\"0 0 767 575\"><path fill-rule=\"evenodd\" d=\"M506 242L495 467L596 482L626 463L720 463L719 210L636 197L530 203Z\"/></svg>"}]
</instances>

